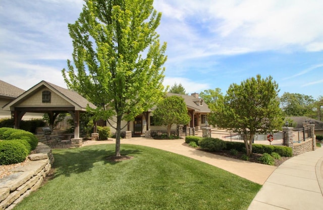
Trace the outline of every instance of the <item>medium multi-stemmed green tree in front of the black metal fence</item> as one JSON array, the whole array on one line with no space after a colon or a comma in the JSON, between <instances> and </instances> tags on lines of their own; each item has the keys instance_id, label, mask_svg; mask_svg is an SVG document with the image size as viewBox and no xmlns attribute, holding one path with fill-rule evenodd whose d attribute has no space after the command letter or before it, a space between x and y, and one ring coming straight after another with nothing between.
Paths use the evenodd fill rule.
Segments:
<instances>
[{"instance_id":1,"label":"medium multi-stemmed green tree in front of the black metal fence","mask_svg":"<svg viewBox=\"0 0 323 210\"><path fill-rule=\"evenodd\" d=\"M240 133L250 156L256 133L281 128L278 92L278 84L272 77L261 79L257 75L240 85L231 84L222 102L212 110L209 122Z\"/></svg>"}]
</instances>

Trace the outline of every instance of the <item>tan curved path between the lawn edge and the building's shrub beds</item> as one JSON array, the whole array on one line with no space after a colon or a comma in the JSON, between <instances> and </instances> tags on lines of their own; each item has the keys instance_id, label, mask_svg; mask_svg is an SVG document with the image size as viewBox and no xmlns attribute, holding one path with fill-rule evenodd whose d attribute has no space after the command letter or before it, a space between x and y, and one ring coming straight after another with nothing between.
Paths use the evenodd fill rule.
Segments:
<instances>
[{"instance_id":1,"label":"tan curved path between the lawn edge and the building's shrub beds","mask_svg":"<svg viewBox=\"0 0 323 210\"><path fill-rule=\"evenodd\" d=\"M115 144L115 139L112 141L87 141L83 146L96 145L96 144ZM229 171L240 177L246 178L258 184L264 184L267 178L277 168L275 166L268 166L259 163L251 163L232 158L227 158L219 155L206 153L203 151L195 150L193 148L185 147L182 144L184 139L176 140L154 140L145 137L133 137L129 139L121 139L121 144L132 144L152 147L160 150L169 151L179 155L187 156L195 160L216 166L218 168Z\"/></svg>"}]
</instances>

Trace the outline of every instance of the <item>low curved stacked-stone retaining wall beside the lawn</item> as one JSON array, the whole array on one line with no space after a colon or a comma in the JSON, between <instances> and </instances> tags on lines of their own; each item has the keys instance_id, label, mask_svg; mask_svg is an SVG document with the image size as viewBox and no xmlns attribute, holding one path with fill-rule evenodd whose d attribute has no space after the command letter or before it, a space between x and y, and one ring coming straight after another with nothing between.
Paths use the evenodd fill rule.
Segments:
<instances>
[{"instance_id":1,"label":"low curved stacked-stone retaining wall beside the lawn","mask_svg":"<svg viewBox=\"0 0 323 210\"><path fill-rule=\"evenodd\" d=\"M48 175L54 158L51 149L38 143L26 165L12 169L13 174L0 179L0 209L13 209L24 197L38 189Z\"/></svg>"}]
</instances>

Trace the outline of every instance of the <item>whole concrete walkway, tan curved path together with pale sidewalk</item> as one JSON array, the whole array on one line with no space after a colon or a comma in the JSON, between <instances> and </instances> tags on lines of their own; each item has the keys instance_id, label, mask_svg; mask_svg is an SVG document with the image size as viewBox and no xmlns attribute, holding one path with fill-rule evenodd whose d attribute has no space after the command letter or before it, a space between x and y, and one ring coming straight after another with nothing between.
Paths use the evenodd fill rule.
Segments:
<instances>
[{"instance_id":1,"label":"whole concrete walkway, tan curved path together with pale sidewalk","mask_svg":"<svg viewBox=\"0 0 323 210\"><path fill-rule=\"evenodd\" d=\"M144 137L121 140L121 144L142 145L187 156L263 185L248 210L323 209L323 148L295 156L274 167L209 154L185 147L183 143L183 139ZM87 141L83 146L97 144L115 144L115 139Z\"/></svg>"}]
</instances>

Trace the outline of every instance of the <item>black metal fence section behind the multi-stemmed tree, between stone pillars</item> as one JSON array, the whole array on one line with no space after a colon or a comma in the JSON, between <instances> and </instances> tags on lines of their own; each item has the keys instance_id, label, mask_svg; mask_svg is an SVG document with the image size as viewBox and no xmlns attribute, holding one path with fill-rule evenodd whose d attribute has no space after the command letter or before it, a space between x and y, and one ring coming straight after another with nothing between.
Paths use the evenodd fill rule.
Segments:
<instances>
[{"instance_id":1,"label":"black metal fence section behind the multi-stemmed tree, between stone pillars","mask_svg":"<svg viewBox=\"0 0 323 210\"><path fill-rule=\"evenodd\" d=\"M228 142L244 142L243 136L239 133L234 133L230 131L211 131L212 138L220 138L223 141ZM253 137L253 144L261 145L283 145L284 144L284 134L283 132L276 133L258 133Z\"/></svg>"}]
</instances>

